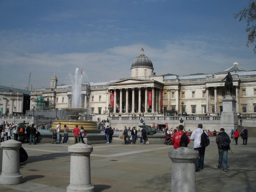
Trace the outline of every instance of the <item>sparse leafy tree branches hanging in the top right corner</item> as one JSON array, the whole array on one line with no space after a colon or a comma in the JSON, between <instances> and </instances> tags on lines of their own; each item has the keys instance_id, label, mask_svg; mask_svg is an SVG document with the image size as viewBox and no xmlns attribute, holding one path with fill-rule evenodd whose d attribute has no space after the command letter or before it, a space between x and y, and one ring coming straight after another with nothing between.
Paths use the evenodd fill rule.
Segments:
<instances>
[{"instance_id":1,"label":"sparse leafy tree branches hanging in the top right corner","mask_svg":"<svg viewBox=\"0 0 256 192\"><path fill-rule=\"evenodd\" d=\"M249 1L249 7L244 8L241 10L238 14L234 14L235 19L239 19L239 22L241 20L246 20L247 22L247 28L246 32L249 32L248 35L248 41L247 41L247 47L249 47L249 44L254 45L254 53L256 53L256 1L250 0Z\"/></svg>"}]
</instances>

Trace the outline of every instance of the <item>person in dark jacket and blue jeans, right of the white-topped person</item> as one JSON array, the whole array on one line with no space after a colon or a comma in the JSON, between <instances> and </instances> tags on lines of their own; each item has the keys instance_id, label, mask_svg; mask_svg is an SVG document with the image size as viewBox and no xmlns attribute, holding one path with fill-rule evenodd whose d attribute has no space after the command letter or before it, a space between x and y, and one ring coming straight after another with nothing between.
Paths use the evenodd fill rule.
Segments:
<instances>
[{"instance_id":1,"label":"person in dark jacket and blue jeans, right of the white-topped person","mask_svg":"<svg viewBox=\"0 0 256 192\"><path fill-rule=\"evenodd\" d=\"M224 128L220 129L220 133L216 137L216 143L219 153L217 169L223 169L224 172L227 172L227 152L230 150L231 141Z\"/></svg>"}]
</instances>

